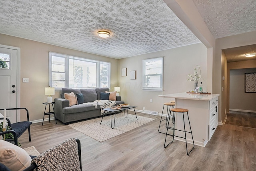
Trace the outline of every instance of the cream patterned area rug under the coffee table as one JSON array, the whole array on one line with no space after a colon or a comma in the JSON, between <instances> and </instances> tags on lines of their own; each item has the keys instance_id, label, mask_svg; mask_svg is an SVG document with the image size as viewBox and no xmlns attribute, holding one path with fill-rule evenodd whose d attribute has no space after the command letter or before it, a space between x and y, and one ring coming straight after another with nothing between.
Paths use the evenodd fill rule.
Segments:
<instances>
[{"instance_id":1,"label":"cream patterned area rug under the coffee table","mask_svg":"<svg viewBox=\"0 0 256 171\"><path fill-rule=\"evenodd\" d=\"M92 137L93 139L96 139L99 142L102 142L154 120L148 117L142 117L138 115L137 117L138 121L135 115L128 114L127 117L124 117L124 112L117 113L114 129L112 129L110 126L110 115L104 116L101 124L100 121L102 117L99 117L88 121L72 123L68 126L84 133L85 135L88 135L89 137ZM112 127L113 124L114 115L112 115Z\"/></svg>"}]
</instances>

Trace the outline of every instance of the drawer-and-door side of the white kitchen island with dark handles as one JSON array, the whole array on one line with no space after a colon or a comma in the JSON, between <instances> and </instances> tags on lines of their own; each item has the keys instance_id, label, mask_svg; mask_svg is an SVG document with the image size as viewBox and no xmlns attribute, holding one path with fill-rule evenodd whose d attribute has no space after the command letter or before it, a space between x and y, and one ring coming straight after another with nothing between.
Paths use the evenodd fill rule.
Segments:
<instances>
[{"instance_id":1,"label":"drawer-and-door side of the white kitchen island with dark handles","mask_svg":"<svg viewBox=\"0 0 256 171\"><path fill-rule=\"evenodd\" d=\"M218 97L212 99L209 103L210 116L208 126L208 140L211 139L213 133L218 127Z\"/></svg>"}]
</instances>

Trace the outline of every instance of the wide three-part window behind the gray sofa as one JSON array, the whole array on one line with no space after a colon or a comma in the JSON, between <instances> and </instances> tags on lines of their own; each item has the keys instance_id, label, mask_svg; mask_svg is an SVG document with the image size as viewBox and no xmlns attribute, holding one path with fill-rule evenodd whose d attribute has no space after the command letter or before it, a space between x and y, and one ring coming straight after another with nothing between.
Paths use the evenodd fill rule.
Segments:
<instances>
[{"instance_id":1,"label":"wide three-part window behind the gray sofa","mask_svg":"<svg viewBox=\"0 0 256 171\"><path fill-rule=\"evenodd\" d=\"M60 89L110 87L110 63L49 52L49 84Z\"/></svg>"}]
</instances>

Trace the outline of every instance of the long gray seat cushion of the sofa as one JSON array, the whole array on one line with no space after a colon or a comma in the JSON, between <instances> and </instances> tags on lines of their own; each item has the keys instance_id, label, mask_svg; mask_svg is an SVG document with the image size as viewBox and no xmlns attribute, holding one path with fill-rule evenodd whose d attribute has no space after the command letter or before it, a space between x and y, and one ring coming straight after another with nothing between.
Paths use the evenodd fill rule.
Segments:
<instances>
[{"instance_id":1,"label":"long gray seat cushion of the sofa","mask_svg":"<svg viewBox=\"0 0 256 171\"><path fill-rule=\"evenodd\" d=\"M91 111L100 109L100 105L97 105L97 108L95 108L93 105L90 104L79 104L79 105L73 105L70 107L64 107L62 109L63 114L72 114L72 113L79 113L84 111Z\"/></svg>"}]
</instances>

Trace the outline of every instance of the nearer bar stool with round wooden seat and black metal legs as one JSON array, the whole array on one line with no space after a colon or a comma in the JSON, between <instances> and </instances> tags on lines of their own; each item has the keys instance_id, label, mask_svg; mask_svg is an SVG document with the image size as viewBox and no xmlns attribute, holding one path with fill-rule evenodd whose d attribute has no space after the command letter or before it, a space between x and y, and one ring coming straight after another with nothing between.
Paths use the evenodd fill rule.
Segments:
<instances>
[{"instance_id":1,"label":"nearer bar stool with round wooden seat and black metal legs","mask_svg":"<svg viewBox=\"0 0 256 171\"><path fill-rule=\"evenodd\" d=\"M192 130L191 130L191 126L190 126L189 117L188 117L188 123L189 123L189 127L190 127L190 132L189 132L189 131L186 131L186 127L185 127L184 113L187 113L187 115L188 115L188 109L173 108L173 109L170 109L170 111L172 112L172 114L173 114L173 116L174 116L174 117L173 117L173 118L174 118L174 124L173 124L172 142L173 142L173 140L174 140L174 137L180 137L180 136L174 135L174 131L175 131L175 130L184 132L185 137L180 137L180 138L184 138L184 139L185 139L185 141L186 141L187 155L189 155L189 154L191 153L191 151L195 148L195 144L194 144L194 139L193 139L193 135L192 135ZM182 113L182 116L183 116L183 123L184 123L184 131L183 131L183 130L179 130L179 129L175 129L176 113ZM170 117L169 117L169 121L168 121L168 125L167 125L166 137L167 137L167 135L170 135L170 134L168 134L169 123L170 123ZM187 136L186 136L186 133L191 133L192 141L193 141L193 148L189 151L189 153L188 153L188 145L187 145ZM168 145L170 145L170 143L172 143L172 142L170 142L168 145L165 145L165 144L166 144L166 137L165 137L165 141L164 141L164 148L166 148Z\"/></svg>"}]
</instances>

